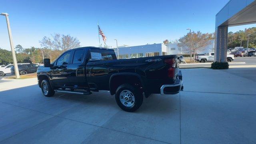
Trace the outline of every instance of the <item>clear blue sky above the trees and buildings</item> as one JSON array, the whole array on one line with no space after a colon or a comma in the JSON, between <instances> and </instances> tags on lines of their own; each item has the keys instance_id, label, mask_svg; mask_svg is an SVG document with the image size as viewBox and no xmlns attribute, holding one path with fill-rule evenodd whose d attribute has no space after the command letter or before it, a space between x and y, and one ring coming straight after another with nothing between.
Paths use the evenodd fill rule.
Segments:
<instances>
[{"instance_id":1,"label":"clear blue sky above the trees and buildings","mask_svg":"<svg viewBox=\"0 0 256 144\"><path fill-rule=\"evenodd\" d=\"M175 40L188 32L214 32L215 15L228 0L1 0L0 13L10 14L14 45L40 47L43 36L70 34L81 46L98 46L98 29L106 44L136 46ZM237 31L250 26L231 27ZM102 41L102 39L101 39ZM4 16L0 48L10 50Z\"/></svg>"}]
</instances>

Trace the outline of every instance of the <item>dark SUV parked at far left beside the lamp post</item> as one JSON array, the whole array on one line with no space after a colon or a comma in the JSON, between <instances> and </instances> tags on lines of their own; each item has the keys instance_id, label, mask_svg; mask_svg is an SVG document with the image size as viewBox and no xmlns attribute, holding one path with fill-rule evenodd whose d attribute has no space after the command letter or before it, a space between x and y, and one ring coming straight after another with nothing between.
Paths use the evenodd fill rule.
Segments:
<instances>
[{"instance_id":1,"label":"dark SUV parked at far left beside the lamp post","mask_svg":"<svg viewBox=\"0 0 256 144\"><path fill-rule=\"evenodd\" d=\"M18 70L21 75L36 72L39 65L37 64L18 64ZM15 74L14 67L11 68L11 73Z\"/></svg>"}]
</instances>

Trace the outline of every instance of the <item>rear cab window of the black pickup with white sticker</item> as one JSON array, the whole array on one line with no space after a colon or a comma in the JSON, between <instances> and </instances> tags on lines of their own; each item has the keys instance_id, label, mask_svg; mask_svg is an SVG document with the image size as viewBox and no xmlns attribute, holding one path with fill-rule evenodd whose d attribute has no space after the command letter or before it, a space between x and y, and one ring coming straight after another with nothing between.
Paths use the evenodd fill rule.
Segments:
<instances>
[{"instance_id":1,"label":"rear cab window of the black pickup with white sticker","mask_svg":"<svg viewBox=\"0 0 256 144\"><path fill-rule=\"evenodd\" d=\"M114 50L90 49L90 60L116 60Z\"/></svg>"}]
</instances>

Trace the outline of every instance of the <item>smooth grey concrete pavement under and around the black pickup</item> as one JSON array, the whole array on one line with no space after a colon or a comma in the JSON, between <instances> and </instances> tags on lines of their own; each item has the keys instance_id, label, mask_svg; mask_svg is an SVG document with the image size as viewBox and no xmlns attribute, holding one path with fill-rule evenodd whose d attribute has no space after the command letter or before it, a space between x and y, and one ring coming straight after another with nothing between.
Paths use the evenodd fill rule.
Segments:
<instances>
[{"instance_id":1,"label":"smooth grey concrete pavement under and around the black pickup","mask_svg":"<svg viewBox=\"0 0 256 144\"><path fill-rule=\"evenodd\" d=\"M36 79L4 82L0 143L256 143L256 68L186 69L184 92L122 111L107 91L44 97Z\"/></svg>"}]
</instances>

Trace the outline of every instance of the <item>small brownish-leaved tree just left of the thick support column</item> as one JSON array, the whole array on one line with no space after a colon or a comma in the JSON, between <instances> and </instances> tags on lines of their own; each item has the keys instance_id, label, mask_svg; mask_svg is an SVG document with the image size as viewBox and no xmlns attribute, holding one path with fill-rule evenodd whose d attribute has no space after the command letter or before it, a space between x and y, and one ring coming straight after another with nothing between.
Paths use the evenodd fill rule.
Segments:
<instances>
[{"instance_id":1,"label":"small brownish-leaved tree just left of the thick support column","mask_svg":"<svg viewBox=\"0 0 256 144\"><path fill-rule=\"evenodd\" d=\"M197 33L191 32L179 39L179 47L182 47L183 50L190 52L190 60L192 60L192 53L195 55L195 52L198 50L203 50L207 45L210 44L209 35L202 34L200 31ZM195 59L193 58L193 62Z\"/></svg>"}]
</instances>

